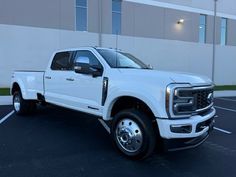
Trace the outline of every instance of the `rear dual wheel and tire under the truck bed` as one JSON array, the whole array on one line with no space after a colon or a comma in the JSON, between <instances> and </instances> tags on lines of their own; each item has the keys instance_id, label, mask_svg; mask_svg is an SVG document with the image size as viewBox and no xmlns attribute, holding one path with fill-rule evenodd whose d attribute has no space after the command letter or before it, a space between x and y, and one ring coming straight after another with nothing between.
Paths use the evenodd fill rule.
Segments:
<instances>
[{"instance_id":1,"label":"rear dual wheel and tire under the truck bed","mask_svg":"<svg viewBox=\"0 0 236 177\"><path fill-rule=\"evenodd\" d=\"M24 100L20 91L13 94L13 108L17 115L26 115L33 113L36 109L36 103L32 100Z\"/></svg>"}]
</instances>

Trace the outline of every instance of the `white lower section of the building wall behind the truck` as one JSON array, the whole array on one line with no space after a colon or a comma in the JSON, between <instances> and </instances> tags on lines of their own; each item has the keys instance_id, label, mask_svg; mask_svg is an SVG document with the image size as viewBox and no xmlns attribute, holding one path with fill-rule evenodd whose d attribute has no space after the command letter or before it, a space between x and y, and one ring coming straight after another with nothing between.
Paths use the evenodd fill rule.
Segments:
<instances>
[{"instance_id":1,"label":"white lower section of the building wall behind the truck","mask_svg":"<svg viewBox=\"0 0 236 177\"><path fill-rule=\"evenodd\" d=\"M0 87L9 87L14 70L45 70L53 51L97 46L98 34L0 25ZM212 45L183 41L102 35L103 47L133 53L155 69L185 71L211 77ZM236 47L217 46L215 82L236 84Z\"/></svg>"}]
</instances>

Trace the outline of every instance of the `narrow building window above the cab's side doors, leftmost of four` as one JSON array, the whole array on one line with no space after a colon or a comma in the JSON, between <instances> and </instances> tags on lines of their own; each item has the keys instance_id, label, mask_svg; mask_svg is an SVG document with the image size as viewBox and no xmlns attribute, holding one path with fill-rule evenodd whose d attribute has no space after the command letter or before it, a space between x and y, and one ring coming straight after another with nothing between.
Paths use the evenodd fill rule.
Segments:
<instances>
[{"instance_id":1,"label":"narrow building window above the cab's side doors, leftmost of four","mask_svg":"<svg viewBox=\"0 0 236 177\"><path fill-rule=\"evenodd\" d=\"M76 30L87 31L87 0L76 0Z\"/></svg>"}]
</instances>

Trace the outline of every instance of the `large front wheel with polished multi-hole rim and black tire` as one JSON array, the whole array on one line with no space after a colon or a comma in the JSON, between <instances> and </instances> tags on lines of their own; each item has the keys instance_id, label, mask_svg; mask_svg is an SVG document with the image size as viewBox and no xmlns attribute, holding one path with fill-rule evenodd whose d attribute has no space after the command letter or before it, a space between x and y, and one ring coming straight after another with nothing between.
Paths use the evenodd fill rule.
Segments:
<instances>
[{"instance_id":1,"label":"large front wheel with polished multi-hole rim and black tire","mask_svg":"<svg viewBox=\"0 0 236 177\"><path fill-rule=\"evenodd\" d=\"M118 150L131 159L150 156L157 140L151 119L137 109L123 110L115 115L111 136Z\"/></svg>"}]
</instances>

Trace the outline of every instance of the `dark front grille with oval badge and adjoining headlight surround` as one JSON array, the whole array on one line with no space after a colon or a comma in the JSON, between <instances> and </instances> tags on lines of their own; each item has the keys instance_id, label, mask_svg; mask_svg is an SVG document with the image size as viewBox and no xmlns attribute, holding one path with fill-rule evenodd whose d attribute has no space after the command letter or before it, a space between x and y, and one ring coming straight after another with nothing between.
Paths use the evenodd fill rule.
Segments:
<instances>
[{"instance_id":1,"label":"dark front grille with oval badge and adjoining headlight surround","mask_svg":"<svg viewBox=\"0 0 236 177\"><path fill-rule=\"evenodd\" d=\"M170 84L166 88L166 111L170 118L205 114L213 106L214 85Z\"/></svg>"}]
</instances>

